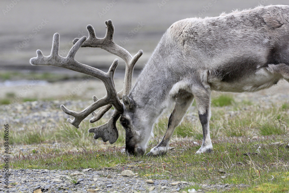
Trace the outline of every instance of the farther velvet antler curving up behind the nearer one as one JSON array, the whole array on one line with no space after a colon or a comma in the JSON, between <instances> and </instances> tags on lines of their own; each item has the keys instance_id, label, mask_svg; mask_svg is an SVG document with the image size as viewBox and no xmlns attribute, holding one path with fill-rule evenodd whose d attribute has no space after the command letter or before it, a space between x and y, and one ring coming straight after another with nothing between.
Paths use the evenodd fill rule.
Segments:
<instances>
[{"instance_id":1,"label":"farther velvet antler curving up behind the nearer one","mask_svg":"<svg viewBox=\"0 0 289 193\"><path fill-rule=\"evenodd\" d=\"M107 52L110 52L111 54L121 57L125 61L126 67L124 86L123 89L117 93L118 98L121 99L124 94L128 95L131 90L134 66L143 52L142 50L140 50L134 57L132 57L126 49L114 43L114 26L112 24L112 21L105 21L105 25L106 34L104 38L97 38L95 36L95 30L93 29L93 27L91 25L88 25L86 28L89 36L87 40L81 45L81 47L99 47L106 50ZM79 38L75 38L73 43L76 43L78 40ZM101 109L97 113L93 113L93 118L90 119L90 122L93 123L98 121L110 108L111 106L101 107Z\"/></svg>"}]
</instances>

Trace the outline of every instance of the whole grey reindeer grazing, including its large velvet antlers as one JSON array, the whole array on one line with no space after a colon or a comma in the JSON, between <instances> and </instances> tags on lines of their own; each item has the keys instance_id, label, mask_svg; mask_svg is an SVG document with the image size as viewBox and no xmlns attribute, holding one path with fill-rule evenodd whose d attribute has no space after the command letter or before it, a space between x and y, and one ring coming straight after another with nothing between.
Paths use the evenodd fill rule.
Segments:
<instances>
[{"instance_id":1,"label":"whole grey reindeer grazing, including its large velvet antlers","mask_svg":"<svg viewBox=\"0 0 289 193\"><path fill-rule=\"evenodd\" d=\"M75 39L68 56L58 55L59 35L55 34L50 56L32 58L32 65L53 65L82 72L102 80L107 95L81 112L61 109L74 117L68 122L78 128L90 113L90 122L99 120L113 105L108 123L90 128L94 138L114 143L118 137L116 120L126 131L126 151L143 155L152 135L153 124L171 103L175 107L168 120L162 141L147 155L168 151L169 140L188 107L196 100L203 128L203 143L197 153L213 149L210 139L210 93L215 91L253 92L271 87L280 79L289 81L289 6L270 5L251 10L234 11L218 17L190 18L177 21L165 32L151 58L131 89L133 67L142 55L132 57L112 39L114 27L106 21L105 38L97 38L91 25L89 38ZM116 93L113 82L118 60L104 73L74 60L79 47L100 47L125 60L125 85ZM121 104L120 100L123 100ZM98 113L96 109L101 107Z\"/></svg>"}]
</instances>

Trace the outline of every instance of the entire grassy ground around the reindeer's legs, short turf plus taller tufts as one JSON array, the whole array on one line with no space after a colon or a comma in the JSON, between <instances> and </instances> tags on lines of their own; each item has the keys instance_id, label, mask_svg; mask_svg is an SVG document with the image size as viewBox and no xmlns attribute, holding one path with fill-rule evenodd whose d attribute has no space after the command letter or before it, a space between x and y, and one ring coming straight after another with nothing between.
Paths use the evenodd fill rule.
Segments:
<instances>
[{"instance_id":1,"label":"entire grassy ground around the reindeer's legs, short turf plus taller tufts","mask_svg":"<svg viewBox=\"0 0 289 193\"><path fill-rule=\"evenodd\" d=\"M144 179L194 183L184 191L194 188L205 192L288 192L289 149L284 148L289 143L288 109L284 105L287 103L262 106L247 101L229 101L226 103L229 105L222 106L224 103L218 102L218 106L212 108L210 134L214 150L208 154L195 155L200 145L193 141L201 144L202 129L197 112L193 112L175 129L170 144L174 149L162 157L134 157L122 153L125 131L119 123L119 138L113 145L94 140L93 134L87 132L88 128L103 122L90 124L84 121L78 129L67 122L56 123L57 127L37 123L27 125L17 132L11 130L10 144L34 144L40 153L32 150L15 154L11 167L49 170L109 168L118 173L129 169ZM244 103L246 108L243 108ZM168 116L163 116L155 124L155 137L149 142L147 152L162 139L167 123ZM253 136L259 139L251 140ZM45 144L56 144L56 148L47 148ZM220 169L225 173L220 173ZM216 184L231 187L214 189Z\"/></svg>"}]
</instances>

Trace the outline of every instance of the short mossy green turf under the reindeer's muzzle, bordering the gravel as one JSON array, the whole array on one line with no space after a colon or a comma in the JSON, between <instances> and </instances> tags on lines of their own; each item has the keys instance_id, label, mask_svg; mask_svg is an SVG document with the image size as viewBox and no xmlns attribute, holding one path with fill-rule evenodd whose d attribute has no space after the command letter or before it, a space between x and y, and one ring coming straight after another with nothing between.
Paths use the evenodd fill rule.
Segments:
<instances>
[{"instance_id":1,"label":"short mossy green turf under the reindeer's muzzle, bordering the gravel","mask_svg":"<svg viewBox=\"0 0 289 193\"><path fill-rule=\"evenodd\" d=\"M174 179L202 184L247 184L248 188L231 189L229 192L260 192L289 190L289 151L283 146L272 145L276 141L284 141L283 137L269 137L258 141L220 139L213 141L212 153L195 155L199 146L192 141L181 140L171 144L174 150L162 157L134 157L121 153L121 148L83 149L81 151L67 151L49 154L17 157L11 161L12 168L29 169L79 169L79 168L110 168L120 173L123 168L138 172L145 179ZM242 142L241 142L242 141ZM284 142L288 143L288 140ZM154 144L150 143L148 149ZM244 155L247 152L256 152L257 155ZM138 163L142 161L142 163ZM134 164L136 163L137 164ZM226 174L218 172L222 169ZM272 179L271 176L274 176ZM222 177L222 178L221 178ZM272 180L270 180L272 179ZM202 188L201 188L202 189ZM234 191L233 191L234 190ZM262 192L262 191L261 191Z\"/></svg>"}]
</instances>

